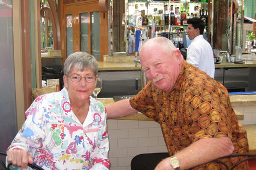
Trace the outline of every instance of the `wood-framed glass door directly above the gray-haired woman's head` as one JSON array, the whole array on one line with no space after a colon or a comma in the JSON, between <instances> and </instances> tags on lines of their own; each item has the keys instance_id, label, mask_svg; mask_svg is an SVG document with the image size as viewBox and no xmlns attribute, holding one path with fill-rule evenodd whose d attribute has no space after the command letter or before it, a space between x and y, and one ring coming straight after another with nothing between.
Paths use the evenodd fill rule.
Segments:
<instances>
[{"instance_id":1,"label":"wood-framed glass door directly above the gray-haired woman's head","mask_svg":"<svg viewBox=\"0 0 256 170\"><path fill-rule=\"evenodd\" d=\"M65 6L64 16L64 57L81 51L92 54L97 61L103 61L103 55L108 54L105 52L108 41L104 43L101 32L108 28L101 27L101 24L108 18L99 11L98 3Z\"/></svg>"}]
</instances>

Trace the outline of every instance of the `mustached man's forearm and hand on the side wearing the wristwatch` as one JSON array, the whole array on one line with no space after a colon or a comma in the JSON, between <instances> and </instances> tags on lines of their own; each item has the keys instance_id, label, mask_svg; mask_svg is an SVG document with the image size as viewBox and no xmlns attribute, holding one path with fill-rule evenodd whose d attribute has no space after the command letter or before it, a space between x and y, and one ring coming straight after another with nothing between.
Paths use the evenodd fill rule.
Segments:
<instances>
[{"instance_id":1,"label":"mustached man's forearm and hand on the side wearing the wristwatch","mask_svg":"<svg viewBox=\"0 0 256 170\"><path fill-rule=\"evenodd\" d=\"M233 143L229 137L206 138L192 143L175 156L180 160L180 169L188 169L231 155L233 150ZM170 169L170 158L164 159L156 169Z\"/></svg>"}]
</instances>

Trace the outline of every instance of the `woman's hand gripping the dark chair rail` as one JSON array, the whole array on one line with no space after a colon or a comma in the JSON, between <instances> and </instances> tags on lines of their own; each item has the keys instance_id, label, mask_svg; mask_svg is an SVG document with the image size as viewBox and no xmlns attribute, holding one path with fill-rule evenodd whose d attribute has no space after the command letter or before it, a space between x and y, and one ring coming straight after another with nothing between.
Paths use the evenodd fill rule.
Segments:
<instances>
[{"instance_id":1,"label":"woman's hand gripping the dark chair rail","mask_svg":"<svg viewBox=\"0 0 256 170\"><path fill-rule=\"evenodd\" d=\"M7 151L7 160L15 167L26 168L27 164L32 164L33 158L26 150L16 149Z\"/></svg>"}]
</instances>

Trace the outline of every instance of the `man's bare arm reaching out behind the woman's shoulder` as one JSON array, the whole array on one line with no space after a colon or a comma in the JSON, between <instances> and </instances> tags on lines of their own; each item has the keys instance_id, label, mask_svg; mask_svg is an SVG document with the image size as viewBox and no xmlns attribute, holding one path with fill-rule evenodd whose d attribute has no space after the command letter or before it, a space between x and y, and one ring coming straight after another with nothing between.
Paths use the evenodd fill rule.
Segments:
<instances>
[{"instance_id":1,"label":"man's bare arm reaching out behind the woman's shoulder","mask_svg":"<svg viewBox=\"0 0 256 170\"><path fill-rule=\"evenodd\" d=\"M106 106L106 112L107 112L107 119L130 116L138 113L138 111L136 111L131 107L129 103L129 99L120 100Z\"/></svg>"}]
</instances>

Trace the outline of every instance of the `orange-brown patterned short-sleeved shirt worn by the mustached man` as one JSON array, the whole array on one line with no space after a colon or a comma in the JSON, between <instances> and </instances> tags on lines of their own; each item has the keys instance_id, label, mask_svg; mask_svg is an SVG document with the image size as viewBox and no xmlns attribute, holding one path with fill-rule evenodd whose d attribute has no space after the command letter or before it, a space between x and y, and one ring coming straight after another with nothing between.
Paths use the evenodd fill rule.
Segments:
<instances>
[{"instance_id":1,"label":"orange-brown patterned short-sleeved shirt worn by the mustached man","mask_svg":"<svg viewBox=\"0 0 256 170\"><path fill-rule=\"evenodd\" d=\"M228 90L187 61L183 62L170 93L149 82L138 95L130 99L130 104L161 125L170 155L197 140L217 137L232 138L233 154L247 153L249 150L245 128L237 121ZM232 167L240 159L225 158L222 162ZM197 168L225 169L224 165L218 163L207 163L193 169ZM249 169L247 161L237 169Z\"/></svg>"}]
</instances>

